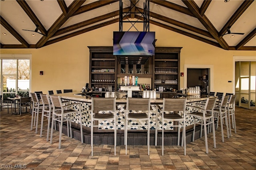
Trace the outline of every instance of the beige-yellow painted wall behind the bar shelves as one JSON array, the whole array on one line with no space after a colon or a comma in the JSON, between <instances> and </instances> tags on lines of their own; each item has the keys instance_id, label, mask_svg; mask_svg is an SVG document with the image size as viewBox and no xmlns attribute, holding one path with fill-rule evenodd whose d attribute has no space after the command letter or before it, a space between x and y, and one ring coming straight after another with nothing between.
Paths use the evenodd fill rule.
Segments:
<instances>
[{"instance_id":1,"label":"beige-yellow painted wall behind the bar shelves","mask_svg":"<svg viewBox=\"0 0 256 170\"><path fill-rule=\"evenodd\" d=\"M99 28L79 36L47 45L40 49L1 49L1 54L32 54L31 92L57 89L80 91L89 82L89 49L87 46L112 46L113 31L118 31L118 23ZM211 91L233 92L233 56L256 57L256 51L227 51L200 42L176 32L150 25L156 32L156 46L182 47L180 72L184 65L213 65L214 89ZM39 75L44 71L44 75ZM184 87L183 77L180 87Z\"/></svg>"}]
</instances>

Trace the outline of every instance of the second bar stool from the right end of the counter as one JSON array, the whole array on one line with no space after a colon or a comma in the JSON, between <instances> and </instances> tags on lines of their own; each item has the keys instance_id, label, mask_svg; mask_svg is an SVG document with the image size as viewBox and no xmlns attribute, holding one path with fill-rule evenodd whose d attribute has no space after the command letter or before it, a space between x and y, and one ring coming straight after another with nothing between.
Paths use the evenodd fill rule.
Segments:
<instances>
[{"instance_id":1,"label":"second bar stool from the right end of the counter","mask_svg":"<svg viewBox=\"0 0 256 170\"><path fill-rule=\"evenodd\" d=\"M228 98L229 96L223 96L220 105L216 105L214 107L214 118L217 120L216 129L218 129L218 122L220 119L220 128L221 128L221 136L222 136L222 142L224 142L224 132L223 132L223 120L225 119L225 124L227 127L227 135L229 138L229 128L228 128L228 113L227 113L227 107L228 107Z\"/></svg>"}]
</instances>

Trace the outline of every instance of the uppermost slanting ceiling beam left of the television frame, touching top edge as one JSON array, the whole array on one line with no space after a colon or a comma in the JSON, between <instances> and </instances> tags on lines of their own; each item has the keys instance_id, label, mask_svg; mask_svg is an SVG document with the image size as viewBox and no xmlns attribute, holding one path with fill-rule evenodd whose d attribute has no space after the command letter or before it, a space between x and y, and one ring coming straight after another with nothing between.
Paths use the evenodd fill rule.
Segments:
<instances>
[{"instance_id":1,"label":"uppermost slanting ceiling beam left of the television frame, touching top edge","mask_svg":"<svg viewBox=\"0 0 256 170\"><path fill-rule=\"evenodd\" d=\"M94 10L96 8L100 8L100 7L108 5L108 4L112 4L114 2L119 2L119 0L99 0L96 2L92 2L90 4L86 4L86 5L83 5L80 8L78 8L78 10L76 10L76 12L74 12L74 14L72 14L72 16L82 14L84 12Z\"/></svg>"}]
</instances>

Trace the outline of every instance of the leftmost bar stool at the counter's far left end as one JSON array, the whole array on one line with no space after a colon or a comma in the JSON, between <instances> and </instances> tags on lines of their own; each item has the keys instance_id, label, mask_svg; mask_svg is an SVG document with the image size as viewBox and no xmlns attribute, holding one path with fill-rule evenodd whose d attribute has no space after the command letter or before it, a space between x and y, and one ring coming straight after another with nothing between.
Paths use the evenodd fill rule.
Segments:
<instances>
[{"instance_id":1,"label":"leftmost bar stool at the counter's far left end","mask_svg":"<svg viewBox=\"0 0 256 170\"><path fill-rule=\"evenodd\" d=\"M30 130L32 130L33 128L33 119L34 119L34 126L36 126L36 133L37 133L39 113L42 112L43 104L42 104L42 101L39 101L38 95L36 95L36 93L30 93L30 95L32 99L32 117L31 117Z\"/></svg>"}]
</instances>

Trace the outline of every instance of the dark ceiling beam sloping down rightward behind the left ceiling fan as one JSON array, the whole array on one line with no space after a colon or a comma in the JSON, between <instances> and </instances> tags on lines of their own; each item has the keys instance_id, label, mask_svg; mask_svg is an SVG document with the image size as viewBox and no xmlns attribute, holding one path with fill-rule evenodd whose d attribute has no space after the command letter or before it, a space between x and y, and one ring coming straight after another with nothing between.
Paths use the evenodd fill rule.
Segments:
<instances>
[{"instance_id":1,"label":"dark ceiling beam sloping down rightward behind the left ceiling fan","mask_svg":"<svg viewBox=\"0 0 256 170\"><path fill-rule=\"evenodd\" d=\"M27 2L24 0L16 0L16 2L18 2L18 4L20 5L20 7L24 10L24 12L26 12L26 14L28 15L28 17L30 18L30 20L32 20L32 22L35 25L38 25L39 28L38 30L40 30L40 32L44 35L47 35L47 31L44 28L43 24L40 22L40 20L37 18L36 14L32 11L32 9L28 6ZM35 27L36 29L36 27Z\"/></svg>"}]
</instances>

